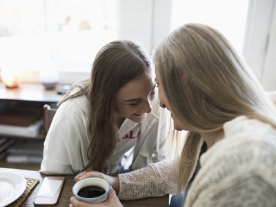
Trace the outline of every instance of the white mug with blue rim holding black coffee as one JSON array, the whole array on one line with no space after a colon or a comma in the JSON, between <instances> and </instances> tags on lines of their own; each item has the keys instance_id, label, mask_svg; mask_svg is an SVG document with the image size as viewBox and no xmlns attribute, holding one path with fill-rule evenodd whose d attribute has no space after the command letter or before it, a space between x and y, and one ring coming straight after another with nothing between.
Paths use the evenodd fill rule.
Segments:
<instances>
[{"instance_id":1,"label":"white mug with blue rim holding black coffee","mask_svg":"<svg viewBox=\"0 0 276 207\"><path fill-rule=\"evenodd\" d=\"M82 197L78 195L79 191L82 188L88 186L96 186L98 188L102 188L105 191L105 193L97 197ZM75 183L75 185L72 188L72 193L79 200L86 201L91 204L100 204L108 199L109 190L110 185L108 184L108 181L106 181L105 179L101 179L99 177L88 177L77 181L77 183Z\"/></svg>"}]
</instances>

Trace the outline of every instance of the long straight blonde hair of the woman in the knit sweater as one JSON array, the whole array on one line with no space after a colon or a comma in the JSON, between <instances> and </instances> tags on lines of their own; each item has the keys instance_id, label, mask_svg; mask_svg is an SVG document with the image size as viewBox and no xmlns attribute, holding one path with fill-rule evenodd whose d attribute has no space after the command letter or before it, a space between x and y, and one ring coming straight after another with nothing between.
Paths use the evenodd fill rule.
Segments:
<instances>
[{"instance_id":1,"label":"long straight blonde hair of the woman in the knit sweater","mask_svg":"<svg viewBox=\"0 0 276 207\"><path fill-rule=\"evenodd\" d=\"M276 127L276 110L245 61L217 30L189 23L155 49L170 108L190 130L179 159L178 190L193 174L201 132L221 130L240 115Z\"/></svg>"}]
</instances>

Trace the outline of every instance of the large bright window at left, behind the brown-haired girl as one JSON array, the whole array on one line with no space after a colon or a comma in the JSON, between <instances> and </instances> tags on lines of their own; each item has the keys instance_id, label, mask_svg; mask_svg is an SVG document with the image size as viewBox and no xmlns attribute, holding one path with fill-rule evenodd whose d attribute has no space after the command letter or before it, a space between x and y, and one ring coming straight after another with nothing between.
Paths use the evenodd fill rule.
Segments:
<instances>
[{"instance_id":1,"label":"large bright window at left, behind the brown-haired girl","mask_svg":"<svg viewBox=\"0 0 276 207\"><path fill-rule=\"evenodd\" d=\"M90 72L117 39L115 0L0 0L0 68Z\"/></svg>"}]
</instances>

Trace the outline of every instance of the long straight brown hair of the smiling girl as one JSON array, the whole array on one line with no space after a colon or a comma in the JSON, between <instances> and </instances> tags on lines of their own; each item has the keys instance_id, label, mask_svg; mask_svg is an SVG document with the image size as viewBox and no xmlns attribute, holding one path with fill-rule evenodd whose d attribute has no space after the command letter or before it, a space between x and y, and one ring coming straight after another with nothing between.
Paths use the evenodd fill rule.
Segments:
<instances>
[{"instance_id":1,"label":"long straight brown hair of the smiling girl","mask_svg":"<svg viewBox=\"0 0 276 207\"><path fill-rule=\"evenodd\" d=\"M110 155L117 145L118 129L114 117L117 93L129 81L150 72L150 59L140 46L132 41L112 41L97 53L90 79L76 84L81 91L66 97L86 95L90 103L87 152L90 162L84 170L106 172Z\"/></svg>"}]
</instances>

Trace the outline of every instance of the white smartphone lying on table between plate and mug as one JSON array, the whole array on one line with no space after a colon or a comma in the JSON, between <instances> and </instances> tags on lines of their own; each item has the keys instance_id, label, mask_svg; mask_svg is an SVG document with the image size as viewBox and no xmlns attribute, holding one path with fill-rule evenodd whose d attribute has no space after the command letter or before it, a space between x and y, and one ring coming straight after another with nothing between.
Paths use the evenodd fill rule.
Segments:
<instances>
[{"instance_id":1,"label":"white smartphone lying on table between plate and mug","mask_svg":"<svg viewBox=\"0 0 276 207\"><path fill-rule=\"evenodd\" d=\"M44 177L42 184L34 199L35 205L55 205L63 187L65 177Z\"/></svg>"}]
</instances>

